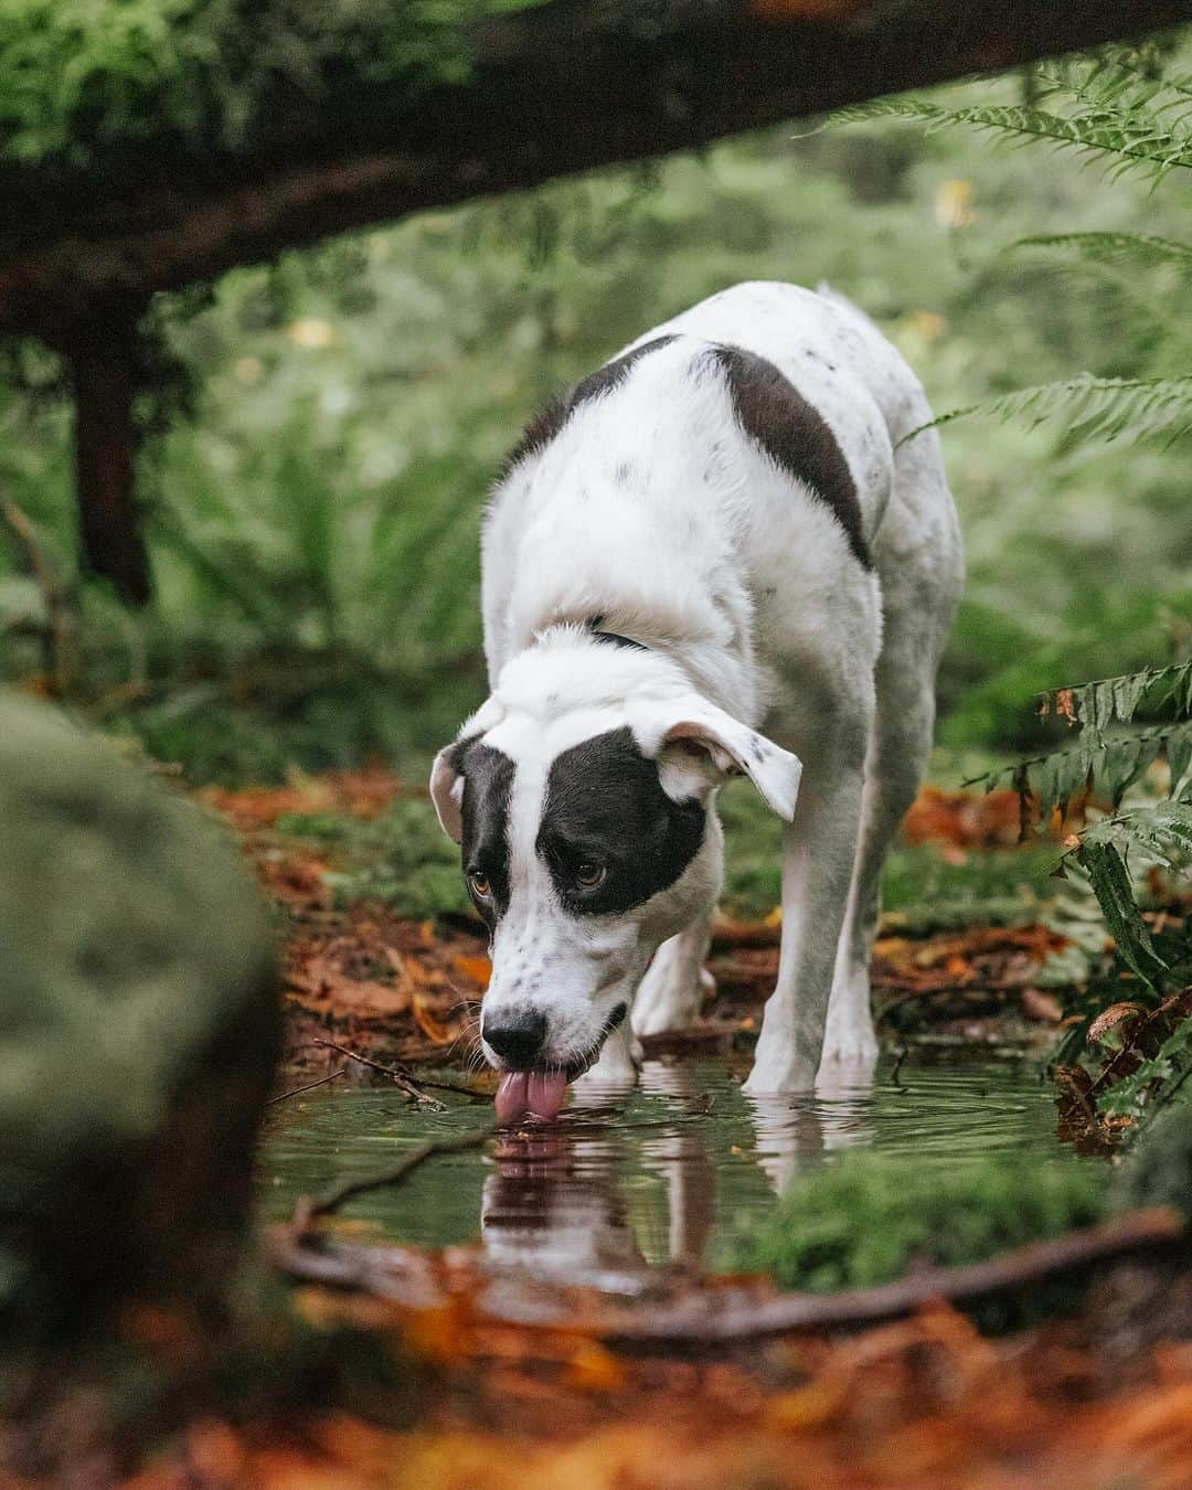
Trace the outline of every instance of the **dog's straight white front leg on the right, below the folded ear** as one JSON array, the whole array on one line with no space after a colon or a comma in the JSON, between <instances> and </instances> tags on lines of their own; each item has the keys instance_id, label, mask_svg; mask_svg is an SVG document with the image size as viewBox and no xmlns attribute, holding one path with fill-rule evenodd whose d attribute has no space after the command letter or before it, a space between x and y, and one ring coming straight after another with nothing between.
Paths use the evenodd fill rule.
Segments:
<instances>
[{"instance_id":1,"label":"dog's straight white front leg on the right, below the folded ear","mask_svg":"<svg viewBox=\"0 0 1192 1490\"><path fill-rule=\"evenodd\" d=\"M782 830L782 949L766 1004L751 1092L809 1091L824 1047L831 974L861 815L863 748L805 763Z\"/></svg>"}]
</instances>

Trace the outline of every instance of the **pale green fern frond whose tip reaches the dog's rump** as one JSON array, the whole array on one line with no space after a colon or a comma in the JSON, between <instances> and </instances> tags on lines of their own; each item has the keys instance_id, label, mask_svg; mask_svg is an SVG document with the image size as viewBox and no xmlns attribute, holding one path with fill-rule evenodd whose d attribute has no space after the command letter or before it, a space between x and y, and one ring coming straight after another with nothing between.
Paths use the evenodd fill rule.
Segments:
<instances>
[{"instance_id":1,"label":"pale green fern frond whose tip reaches the dog's rump","mask_svg":"<svg viewBox=\"0 0 1192 1490\"><path fill-rule=\"evenodd\" d=\"M1134 444L1162 440L1164 446L1171 446L1192 434L1192 377L1104 378L1082 372L1074 378L1021 387L1001 398L948 410L903 435L898 446L925 429L939 429L976 414L992 416L1003 423L1025 419L1031 428L1065 416L1064 448L1088 440L1122 437Z\"/></svg>"}]
</instances>

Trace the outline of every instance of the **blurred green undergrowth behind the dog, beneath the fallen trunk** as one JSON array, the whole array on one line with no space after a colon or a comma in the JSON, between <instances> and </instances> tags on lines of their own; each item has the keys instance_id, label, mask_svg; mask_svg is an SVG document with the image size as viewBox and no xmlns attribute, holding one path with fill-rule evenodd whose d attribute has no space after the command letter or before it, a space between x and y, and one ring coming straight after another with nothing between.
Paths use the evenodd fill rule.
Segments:
<instances>
[{"instance_id":1,"label":"blurred green undergrowth behind the dog, beneath the fallen trunk","mask_svg":"<svg viewBox=\"0 0 1192 1490\"><path fill-rule=\"evenodd\" d=\"M1019 98L1025 76L940 91ZM1186 237L1183 183L903 121L791 125L288 253L155 307L188 396L139 475L155 599L80 581L60 370L10 349L0 495L61 589L66 693L194 782L374 754L420 775L484 694L477 532L535 405L742 279L827 279L939 411L1080 370L1186 371L1186 282L1024 234ZM1186 317L1185 317L1186 320ZM153 410L146 410L152 416ZM968 589L940 676L943 775L1016 751L1047 685L1162 663L1192 632L1179 448L1068 450L1055 425L945 431ZM0 527L0 673L45 668L30 551Z\"/></svg>"}]
</instances>

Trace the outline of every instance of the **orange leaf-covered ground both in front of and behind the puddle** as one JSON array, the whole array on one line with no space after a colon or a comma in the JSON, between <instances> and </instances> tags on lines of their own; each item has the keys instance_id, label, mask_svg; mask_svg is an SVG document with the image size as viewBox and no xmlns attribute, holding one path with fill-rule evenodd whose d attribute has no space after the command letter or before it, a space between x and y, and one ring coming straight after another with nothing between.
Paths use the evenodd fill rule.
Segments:
<instances>
[{"instance_id":1,"label":"orange leaf-covered ground both in front of and behind the puddle","mask_svg":"<svg viewBox=\"0 0 1192 1490\"><path fill-rule=\"evenodd\" d=\"M417 1091L432 1095L422 1080L444 1080L487 1122L492 1079L475 1052L486 939L460 903L451 846L426 837L420 796L408 793L407 808L384 770L203 796L241 836L282 919L274 1103L304 1101L299 1089L320 1082L399 1086L398 1070L411 1106ZM1016 825L1016 800L928 791L907 837L963 869L983 854L1006 860ZM907 1044L1042 1058L1053 1042L1064 1012L1044 971L1070 939L1028 901L1007 913L1004 888L988 915L936 895L927 913L885 916L873 986L887 1067ZM717 927L715 994L694 1027L648 1042L651 1058L748 1053L778 960L764 898L764 884L736 903L730 894L745 913ZM325 1225L349 1246L362 1231ZM274 1232L274 1249L279 1235L285 1252L292 1232ZM609 1340L592 1289L493 1278L474 1247L361 1255L368 1266L353 1286L337 1286L334 1266L322 1281L316 1269L285 1310L299 1334L353 1331L365 1363L334 1386L320 1378L313 1396L307 1383L291 1408L213 1404L142 1460L137 1490L1192 1483L1192 1347L1165 1340L1161 1322L1107 1322L1120 1299L1103 1307L1094 1295L1076 1319L998 1337L928 1301L872 1328L653 1347ZM729 1284L688 1265L670 1269L668 1287L706 1296ZM168 1331L143 1337L150 1351L174 1348Z\"/></svg>"}]
</instances>

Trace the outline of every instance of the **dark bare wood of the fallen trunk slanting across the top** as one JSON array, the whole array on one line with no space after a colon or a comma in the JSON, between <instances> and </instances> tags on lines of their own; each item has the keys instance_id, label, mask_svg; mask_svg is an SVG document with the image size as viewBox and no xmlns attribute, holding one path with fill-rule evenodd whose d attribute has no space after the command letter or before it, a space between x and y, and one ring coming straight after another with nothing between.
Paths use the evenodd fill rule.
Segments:
<instances>
[{"instance_id":1,"label":"dark bare wood of the fallen trunk slanting across the top","mask_svg":"<svg viewBox=\"0 0 1192 1490\"><path fill-rule=\"evenodd\" d=\"M237 153L177 134L0 170L0 329L52 335L282 249L553 176L1170 27L1189 0L551 0L471 33L460 86L347 76L261 104Z\"/></svg>"}]
</instances>

